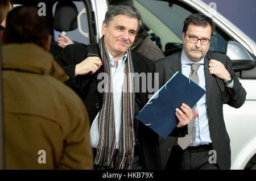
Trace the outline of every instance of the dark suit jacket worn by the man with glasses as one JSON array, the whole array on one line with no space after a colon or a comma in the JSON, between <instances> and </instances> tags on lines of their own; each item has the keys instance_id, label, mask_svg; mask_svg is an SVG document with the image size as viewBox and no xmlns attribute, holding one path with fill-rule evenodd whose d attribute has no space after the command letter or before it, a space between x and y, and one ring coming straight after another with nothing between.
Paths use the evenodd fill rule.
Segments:
<instances>
[{"instance_id":1,"label":"dark suit jacket worn by the man with glasses","mask_svg":"<svg viewBox=\"0 0 256 181\"><path fill-rule=\"evenodd\" d=\"M210 59L221 61L229 73L232 74L234 78L234 87L232 89L227 89L224 85L224 81L210 74ZM181 51L160 59L155 65L156 72L159 72L159 85L163 86L176 71L182 72ZM217 151L218 166L220 166L220 169L230 169L230 139L226 132L222 108L224 103L234 108L241 107L245 102L246 91L236 78L232 68L232 61L224 54L208 52L204 58L204 73L207 90L207 115L209 119L210 138L212 140L213 149ZM174 137L161 140L160 148L171 148L175 140L176 138Z\"/></svg>"}]
</instances>

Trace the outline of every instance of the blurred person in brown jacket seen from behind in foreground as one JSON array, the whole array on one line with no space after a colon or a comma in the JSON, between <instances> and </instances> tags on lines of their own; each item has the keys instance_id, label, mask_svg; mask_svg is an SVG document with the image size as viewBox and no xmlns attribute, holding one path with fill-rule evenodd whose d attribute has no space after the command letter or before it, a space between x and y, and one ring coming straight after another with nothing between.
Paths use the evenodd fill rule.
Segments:
<instances>
[{"instance_id":1,"label":"blurred person in brown jacket seen from behind in foreground","mask_svg":"<svg viewBox=\"0 0 256 181\"><path fill-rule=\"evenodd\" d=\"M26 22L24 22L26 19ZM48 53L38 8L11 10L3 32L6 169L92 169L88 115Z\"/></svg>"}]
</instances>

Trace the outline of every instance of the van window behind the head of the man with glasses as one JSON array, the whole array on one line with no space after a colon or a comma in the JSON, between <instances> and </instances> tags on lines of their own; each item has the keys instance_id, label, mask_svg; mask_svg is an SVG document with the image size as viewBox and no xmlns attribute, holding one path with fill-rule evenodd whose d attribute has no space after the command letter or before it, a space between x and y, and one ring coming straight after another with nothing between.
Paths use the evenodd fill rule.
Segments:
<instances>
[{"instance_id":1,"label":"van window behind the head of the man with glasses","mask_svg":"<svg viewBox=\"0 0 256 181\"><path fill-rule=\"evenodd\" d=\"M156 0L114 1L114 3L118 2L133 5L141 12L143 23L151 39L156 41L155 43L166 56L183 48L183 22L188 15L197 12L195 9L179 1L177 3ZM216 27L209 50L225 53L226 41L229 40L232 39Z\"/></svg>"}]
</instances>

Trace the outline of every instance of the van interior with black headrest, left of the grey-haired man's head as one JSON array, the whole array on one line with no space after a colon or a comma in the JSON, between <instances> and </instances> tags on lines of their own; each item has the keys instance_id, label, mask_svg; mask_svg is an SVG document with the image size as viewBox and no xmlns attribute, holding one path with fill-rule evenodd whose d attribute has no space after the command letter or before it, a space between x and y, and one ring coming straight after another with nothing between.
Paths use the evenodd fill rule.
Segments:
<instances>
[{"instance_id":1,"label":"van interior with black headrest, left of the grey-haired man's head","mask_svg":"<svg viewBox=\"0 0 256 181\"><path fill-rule=\"evenodd\" d=\"M96 43L96 36L94 36L96 35L95 24L92 20L92 16L94 14L92 11L92 5L90 5L90 1L13 0L13 3L14 7L19 5L33 5L38 6L39 11L41 11L40 8L42 8L41 13L47 16L53 28L52 44L50 49L50 52L53 54L53 56L60 54L61 50L63 49L57 45L57 37L59 37L60 34L67 35L74 42L85 44ZM44 10L45 12L43 12ZM79 22L77 22L77 16L80 16ZM89 24L92 28L88 28Z\"/></svg>"}]
</instances>

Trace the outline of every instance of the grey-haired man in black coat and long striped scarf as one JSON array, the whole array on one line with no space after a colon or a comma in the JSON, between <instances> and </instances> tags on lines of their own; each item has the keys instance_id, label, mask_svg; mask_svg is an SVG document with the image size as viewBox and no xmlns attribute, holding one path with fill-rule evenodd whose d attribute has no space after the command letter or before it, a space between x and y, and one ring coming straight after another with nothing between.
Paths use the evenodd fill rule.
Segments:
<instances>
[{"instance_id":1,"label":"grey-haired man in black coat and long striped scarf","mask_svg":"<svg viewBox=\"0 0 256 181\"><path fill-rule=\"evenodd\" d=\"M56 57L69 76L67 85L79 94L88 110L96 169L165 167L158 135L134 118L147 103L148 95L154 94L148 91L147 84L150 77L153 79L149 81L154 82L154 62L130 50L141 24L141 16L134 7L112 6L106 12L104 36L98 44L68 45ZM96 52L91 57L88 49L92 47ZM144 79L138 82L135 73L144 74ZM176 113L179 124L171 135L184 136L185 125L192 117L191 108L183 104Z\"/></svg>"}]
</instances>

